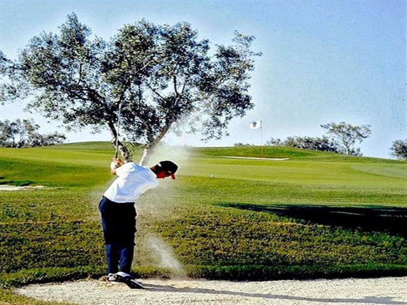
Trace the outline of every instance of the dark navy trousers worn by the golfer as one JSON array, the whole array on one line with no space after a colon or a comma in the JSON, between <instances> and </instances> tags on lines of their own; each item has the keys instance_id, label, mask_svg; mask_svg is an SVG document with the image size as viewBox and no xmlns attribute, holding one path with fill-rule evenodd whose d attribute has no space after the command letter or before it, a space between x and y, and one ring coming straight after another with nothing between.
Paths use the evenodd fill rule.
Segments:
<instances>
[{"instance_id":1,"label":"dark navy trousers worn by the golfer","mask_svg":"<svg viewBox=\"0 0 407 305\"><path fill-rule=\"evenodd\" d=\"M106 247L107 272L130 274L136 232L134 202L118 203L102 197L99 202Z\"/></svg>"}]
</instances>

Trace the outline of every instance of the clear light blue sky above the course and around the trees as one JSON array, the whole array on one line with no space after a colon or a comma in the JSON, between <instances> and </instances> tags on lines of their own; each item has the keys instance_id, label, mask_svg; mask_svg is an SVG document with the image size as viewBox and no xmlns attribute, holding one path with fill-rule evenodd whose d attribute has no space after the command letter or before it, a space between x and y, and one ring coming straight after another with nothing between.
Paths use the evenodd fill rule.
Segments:
<instances>
[{"instance_id":1,"label":"clear light blue sky above the course and around the trees","mask_svg":"<svg viewBox=\"0 0 407 305\"><path fill-rule=\"evenodd\" d=\"M322 136L332 121L373 130L360 147L365 156L389 158L396 139L407 138L405 1L5 1L0 0L0 49L15 58L41 31L57 32L75 12L95 35L108 39L125 23L188 21L212 44L227 44L233 31L254 35L257 58L250 94L255 108L232 120L230 136L205 144L199 135L169 135L188 145L260 143L249 121L263 120L263 139ZM56 122L0 106L0 119L33 117L42 132ZM109 134L66 133L71 142L109 140Z\"/></svg>"}]
</instances>

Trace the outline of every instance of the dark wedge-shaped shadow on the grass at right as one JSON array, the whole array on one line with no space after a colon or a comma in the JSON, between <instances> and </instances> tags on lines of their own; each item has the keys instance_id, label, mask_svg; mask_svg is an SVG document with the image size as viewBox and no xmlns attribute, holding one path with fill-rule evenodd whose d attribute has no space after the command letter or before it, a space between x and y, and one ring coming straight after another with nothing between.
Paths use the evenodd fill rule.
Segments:
<instances>
[{"instance_id":1,"label":"dark wedge-shaped shadow on the grass at right","mask_svg":"<svg viewBox=\"0 0 407 305\"><path fill-rule=\"evenodd\" d=\"M257 205L233 202L217 204L223 207L268 212L321 225L389 232L407 238L407 208Z\"/></svg>"}]
</instances>

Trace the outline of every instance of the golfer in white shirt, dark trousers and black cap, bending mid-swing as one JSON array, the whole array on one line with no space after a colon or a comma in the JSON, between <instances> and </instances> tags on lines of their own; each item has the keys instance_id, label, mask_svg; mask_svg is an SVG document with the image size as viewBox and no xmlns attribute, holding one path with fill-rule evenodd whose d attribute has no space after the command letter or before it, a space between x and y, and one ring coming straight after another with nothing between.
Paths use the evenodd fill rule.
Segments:
<instances>
[{"instance_id":1,"label":"golfer in white shirt, dark trousers and black cap, bending mid-swing","mask_svg":"<svg viewBox=\"0 0 407 305\"><path fill-rule=\"evenodd\" d=\"M124 282L130 288L142 289L130 275L137 215L134 202L139 195L156 188L157 179L169 176L175 179L178 166L171 161L161 161L153 167L139 166L134 162L123 163L113 158L110 169L118 177L99 203L106 245L107 280Z\"/></svg>"}]
</instances>

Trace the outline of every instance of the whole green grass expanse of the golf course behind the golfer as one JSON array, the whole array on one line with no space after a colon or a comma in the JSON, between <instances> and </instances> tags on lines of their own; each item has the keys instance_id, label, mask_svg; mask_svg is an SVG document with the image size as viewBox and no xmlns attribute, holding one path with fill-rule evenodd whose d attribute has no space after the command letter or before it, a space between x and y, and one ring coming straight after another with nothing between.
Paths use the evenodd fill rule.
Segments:
<instances>
[{"instance_id":1,"label":"whole green grass expanse of the golf course behind the golfer","mask_svg":"<svg viewBox=\"0 0 407 305\"><path fill-rule=\"evenodd\" d=\"M158 267L149 246L151 233L172 246L191 277L407 274L405 235L394 227L396 222L380 216L380 208L404 211L407 162L286 147L263 151L264 157L290 158L286 161L222 157L260 157L260 147L162 150L162 159L172 159L180 170L177 180L161 181L137 204L134 271L139 276L168 273ZM112 179L112 154L107 142L0 148L0 184L48 187L1 192L4 287L103 273L97 204ZM316 219L300 207L332 217ZM355 225L352 215L361 213L377 221L377 227ZM0 296L8 293L0 290Z\"/></svg>"}]
</instances>

